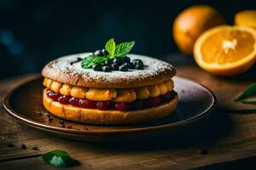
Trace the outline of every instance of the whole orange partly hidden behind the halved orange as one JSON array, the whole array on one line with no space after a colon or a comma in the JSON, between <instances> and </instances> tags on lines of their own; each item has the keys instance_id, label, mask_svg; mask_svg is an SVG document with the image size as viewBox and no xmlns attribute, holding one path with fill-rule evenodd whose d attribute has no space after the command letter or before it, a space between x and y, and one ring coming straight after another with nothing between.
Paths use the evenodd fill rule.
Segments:
<instances>
[{"instance_id":1,"label":"whole orange partly hidden behind the halved orange","mask_svg":"<svg viewBox=\"0 0 256 170\"><path fill-rule=\"evenodd\" d=\"M224 17L215 8L195 5L177 15L173 23L172 34L177 47L183 53L193 54L195 40L201 33L224 24Z\"/></svg>"}]
</instances>

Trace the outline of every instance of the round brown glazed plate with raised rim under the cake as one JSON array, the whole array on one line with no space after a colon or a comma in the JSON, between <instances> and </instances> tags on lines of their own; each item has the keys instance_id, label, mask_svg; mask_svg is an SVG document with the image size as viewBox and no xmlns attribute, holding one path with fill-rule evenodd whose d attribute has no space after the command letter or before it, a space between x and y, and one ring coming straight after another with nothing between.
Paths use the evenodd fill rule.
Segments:
<instances>
[{"instance_id":1,"label":"round brown glazed plate with raised rim under the cake","mask_svg":"<svg viewBox=\"0 0 256 170\"><path fill-rule=\"evenodd\" d=\"M154 138L168 135L179 127L198 122L212 113L216 104L214 94L204 86L181 77L173 78L179 97L177 110L166 118L154 122L125 126L96 126L77 122L64 122L52 116L42 103L43 77L25 82L7 94L3 106L9 116L30 127L38 128L67 139L82 141L113 141Z\"/></svg>"}]
</instances>

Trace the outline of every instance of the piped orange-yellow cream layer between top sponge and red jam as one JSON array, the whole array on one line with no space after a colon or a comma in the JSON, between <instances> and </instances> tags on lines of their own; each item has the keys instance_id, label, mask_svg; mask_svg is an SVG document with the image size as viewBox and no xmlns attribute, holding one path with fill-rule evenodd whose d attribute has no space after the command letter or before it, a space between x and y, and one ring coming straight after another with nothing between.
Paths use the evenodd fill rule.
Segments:
<instances>
[{"instance_id":1,"label":"piped orange-yellow cream layer between top sponge and red jam","mask_svg":"<svg viewBox=\"0 0 256 170\"><path fill-rule=\"evenodd\" d=\"M135 99L148 99L158 97L172 91L174 84L172 80L139 88L83 88L72 86L62 82L55 82L44 78L44 87L55 93L71 95L74 98L92 99L97 101L112 100L113 102L132 102Z\"/></svg>"}]
</instances>

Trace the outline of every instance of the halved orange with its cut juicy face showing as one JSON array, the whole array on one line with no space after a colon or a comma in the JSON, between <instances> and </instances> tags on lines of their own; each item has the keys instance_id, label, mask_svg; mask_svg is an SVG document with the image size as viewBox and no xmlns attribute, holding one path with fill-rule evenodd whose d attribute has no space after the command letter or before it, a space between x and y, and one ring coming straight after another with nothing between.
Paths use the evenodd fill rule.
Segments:
<instances>
[{"instance_id":1,"label":"halved orange with its cut juicy face showing","mask_svg":"<svg viewBox=\"0 0 256 170\"><path fill-rule=\"evenodd\" d=\"M217 26L196 40L196 63L216 75L247 71L256 59L256 30L247 26Z\"/></svg>"}]
</instances>

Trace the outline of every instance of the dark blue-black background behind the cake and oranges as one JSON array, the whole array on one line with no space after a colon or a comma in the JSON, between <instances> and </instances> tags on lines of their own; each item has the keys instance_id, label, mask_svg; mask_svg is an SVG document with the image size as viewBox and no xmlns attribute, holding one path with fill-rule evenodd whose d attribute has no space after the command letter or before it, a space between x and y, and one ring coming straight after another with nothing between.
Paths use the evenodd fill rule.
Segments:
<instances>
[{"instance_id":1,"label":"dark blue-black background behind the cake and oranges","mask_svg":"<svg viewBox=\"0 0 256 170\"><path fill-rule=\"evenodd\" d=\"M110 37L136 41L132 53L177 53L172 22L179 12L208 4L233 24L255 1L21 1L0 0L0 78L39 72L61 55L103 48Z\"/></svg>"}]
</instances>

